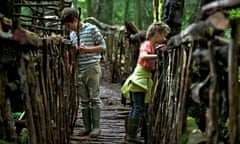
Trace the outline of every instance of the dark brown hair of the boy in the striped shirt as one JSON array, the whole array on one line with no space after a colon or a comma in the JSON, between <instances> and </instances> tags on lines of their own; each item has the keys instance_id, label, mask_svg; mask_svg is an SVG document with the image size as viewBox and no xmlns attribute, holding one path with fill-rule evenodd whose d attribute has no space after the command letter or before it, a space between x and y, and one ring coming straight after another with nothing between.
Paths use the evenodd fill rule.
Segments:
<instances>
[{"instance_id":1,"label":"dark brown hair of the boy in the striped shirt","mask_svg":"<svg viewBox=\"0 0 240 144\"><path fill-rule=\"evenodd\" d=\"M78 18L78 13L75 9L66 7L61 12L61 21L64 22L73 22L74 18Z\"/></svg>"}]
</instances>

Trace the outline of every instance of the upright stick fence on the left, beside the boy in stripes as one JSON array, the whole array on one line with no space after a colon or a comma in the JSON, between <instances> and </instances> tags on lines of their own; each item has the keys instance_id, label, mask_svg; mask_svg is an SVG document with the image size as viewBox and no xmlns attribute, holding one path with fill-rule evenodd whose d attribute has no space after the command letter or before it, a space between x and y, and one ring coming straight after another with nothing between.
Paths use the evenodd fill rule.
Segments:
<instances>
[{"instance_id":1,"label":"upright stick fence on the left, beside the boy in stripes","mask_svg":"<svg viewBox=\"0 0 240 144\"><path fill-rule=\"evenodd\" d=\"M68 143L78 110L75 48L57 37L39 39L40 47L0 40L3 139L19 143L19 124L27 128L31 144ZM17 109L21 119L13 119L14 99L21 99L16 102L23 105Z\"/></svg>"}]
</instances>

